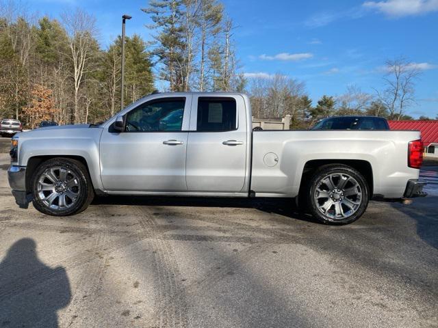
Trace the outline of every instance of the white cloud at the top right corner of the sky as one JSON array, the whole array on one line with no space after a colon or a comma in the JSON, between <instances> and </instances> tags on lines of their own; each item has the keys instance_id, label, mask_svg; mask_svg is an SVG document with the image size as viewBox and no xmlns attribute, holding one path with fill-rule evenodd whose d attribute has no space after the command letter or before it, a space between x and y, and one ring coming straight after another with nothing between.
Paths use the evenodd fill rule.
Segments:
<instances>
[{"instance_id":1,"label":"white cloud at the top right corner of the sky","mask_svg":"<svg viewBox=\"0 0 438 328\"><path fill-rule=\"evenodd\" d=\"M387 16L402 17L438 11L438 0L366 1L363 7L377 10Z\"/></svg>"}]
</instances>

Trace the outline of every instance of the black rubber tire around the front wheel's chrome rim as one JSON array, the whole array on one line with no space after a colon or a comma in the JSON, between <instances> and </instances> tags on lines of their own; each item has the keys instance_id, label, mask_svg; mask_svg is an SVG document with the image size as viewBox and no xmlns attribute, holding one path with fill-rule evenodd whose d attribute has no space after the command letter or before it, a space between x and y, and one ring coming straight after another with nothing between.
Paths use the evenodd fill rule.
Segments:
<instances>
[{"instance_id":1,"label":"black rubber tire around the front wheel's chrome rim","mask_svg":"<svg viewBox=\"0 0 438 328\"><path fill-rule=\"evenodd\" d=\"M44 199L40 197L41 191L38 190L38 181L40 181L44 172L55 167L66 169L77 178L77 181L75 181L77 184L77 197L75 197L74 201L71 201L71 204L67 208L51 208L47 204L44 204ZM83 163L75 159L55 158L44 161L36 168L35 174L31 180L31 188L34 197L32 201L34 207L41 213L56 217L64 217L80 213L90 205L94 198L94 189L92 187L88 170ZM59 198L58 202L60 202Z\"/></svg>"}]
</instances>

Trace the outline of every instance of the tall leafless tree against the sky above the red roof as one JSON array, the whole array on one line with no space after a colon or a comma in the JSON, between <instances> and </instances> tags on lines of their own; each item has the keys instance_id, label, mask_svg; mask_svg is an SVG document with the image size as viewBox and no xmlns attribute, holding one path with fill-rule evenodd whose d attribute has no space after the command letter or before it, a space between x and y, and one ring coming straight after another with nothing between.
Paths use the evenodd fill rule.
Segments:
<instances>
[{"instance_id":1,"label":"tall leafless tree against the sky above the red roof","mask_svg":"<svg viewBox=\"0 0 438 328\"><path fill-rule=\"evenodd\" d=\"M400 120L404 110L415 102L415 80L421 71L403 57L387 60L385 70L385 90L377 95L389 110L389 119Z\"/></svg>"}]
</instances>

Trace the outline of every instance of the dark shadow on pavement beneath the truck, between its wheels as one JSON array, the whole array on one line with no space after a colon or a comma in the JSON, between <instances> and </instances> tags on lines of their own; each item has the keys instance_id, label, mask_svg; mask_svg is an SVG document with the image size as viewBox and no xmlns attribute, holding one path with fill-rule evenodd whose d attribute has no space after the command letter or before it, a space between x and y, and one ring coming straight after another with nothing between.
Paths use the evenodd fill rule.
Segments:
<instances>
[{"instance_id":1,"label":"dark shadow on pavement beneath the truck, between its wheels","mask_svg":"<svg viewBox=\"0 0 438 328\"><path fill-rule=\"evenodd\" d=\"M231 197L159 197L159 196L104 196L94 198L94 205L188 206L218 208L255 208L261 212L281 215L287 219L320 223L311 215L300 213L291 198L231 198Z\"/></svg>"}]
</instances>

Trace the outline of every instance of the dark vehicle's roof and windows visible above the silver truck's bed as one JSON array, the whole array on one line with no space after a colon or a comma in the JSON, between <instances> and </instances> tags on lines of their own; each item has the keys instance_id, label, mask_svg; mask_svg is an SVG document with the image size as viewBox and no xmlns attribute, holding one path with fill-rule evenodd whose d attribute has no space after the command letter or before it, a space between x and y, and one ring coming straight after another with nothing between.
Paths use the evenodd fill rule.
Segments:
<instances>
[{"instance_id":1,"label":"dark vehicle's roof and windows visible above the silver truck's bed","mask_svg":"<svg viewBox=\"0 0 438 328\"><path fill-rule=\"evenodd\" d=\"M337 116L325 118L311 130L389 130L389 124L377 116Z\"/></svg>"}]
</instances>

